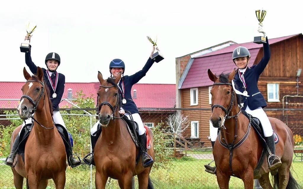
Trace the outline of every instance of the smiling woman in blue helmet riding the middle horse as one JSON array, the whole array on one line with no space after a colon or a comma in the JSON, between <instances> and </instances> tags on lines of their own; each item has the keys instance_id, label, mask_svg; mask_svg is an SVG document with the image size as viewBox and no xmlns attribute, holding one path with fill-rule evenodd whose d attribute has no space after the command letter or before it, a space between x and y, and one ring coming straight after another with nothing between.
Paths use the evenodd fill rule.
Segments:
<instances>
[{"instance_id":1,"label":"smiling woman in blue helmet riding the middle horse","mask_svg":"<svg viewBox=\"0 0 303 189\"><path fill-rule=\"evenodd\" d=\"M157 49L158 50L158 49ZM151 55L154 53L155 47L153 47L151 51ZM138 108L135 104L135 102L132 100L131 90L132 86L135 83L138 83L138 81L144 77L149 70L149 68L153 65L155 62L153 59L148 58L145 66L142 70L138 71L137 73L131 75L131 76L123 76L125 71L125 64L121 59L113 59L109 64L109 72L111 73L112 77L118 76L120 72L122 72L122 77L118 83L119 91L121 93L121 96L123 98L122 104L120 104L120 111L119 113L124 114L125 116L130 119L130 115L128 113L125 113L125 111L129 111L132 114L133 120L138 123L138 139L142 146L142 164L144 167L148 167L152 162L153 159L147 154L147 141L146 141L146 133L144 129L144 124L142 122L142 119L139 115ZM120 101L121 102L121 101ZM94 134L97 131L99 125L99 121L92 127L91 129L91 142L92 142L92 150L94 151L95 144L98 140L99 135ZM93 154L91 158L85 158L84 162L86 162L88 165L94 164L93 162Z\"/></svg>"}]
</instances>

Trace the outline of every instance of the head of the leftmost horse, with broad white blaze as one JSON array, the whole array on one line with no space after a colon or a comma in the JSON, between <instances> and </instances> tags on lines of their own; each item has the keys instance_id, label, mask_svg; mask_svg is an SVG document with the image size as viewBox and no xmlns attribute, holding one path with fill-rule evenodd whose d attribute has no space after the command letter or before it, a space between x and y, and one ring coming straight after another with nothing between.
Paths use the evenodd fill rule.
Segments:
<instances>
[{"instance_id":1,"label":"head of the leftmost horse, with broad white blaze","mask_svg":"<svg viewBox=\"0 0 303 189\"><path fill-rule=\"evenodd\" d=\"M38 67L36 75L30 75L23 69L24 78L27 80L22 86L22 96L17 107L21 119L28 119L36 110L41 110L45 103L45 84L43 83L43 71ZM43 96L43 98L42 98ZM42 99L42 100L41 100Z\"/></svg>"}]
</instances>

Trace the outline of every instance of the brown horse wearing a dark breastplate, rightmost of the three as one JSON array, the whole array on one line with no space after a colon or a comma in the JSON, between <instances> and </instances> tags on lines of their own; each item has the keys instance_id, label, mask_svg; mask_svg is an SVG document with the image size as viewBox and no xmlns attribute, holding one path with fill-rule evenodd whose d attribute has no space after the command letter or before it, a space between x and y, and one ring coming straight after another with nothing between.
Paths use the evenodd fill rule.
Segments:
<instances>
[{"instance_id":1,"label":"brown horse wearing a dark breastplate, rightmost of the three","mask_svg":"<svg viewBox=\"0 0 303 189\"><path fill-rule=\"evenodd\" d=\"M220 128L213 150L219 187L228 189L230 177L233 175L242 179L245 189L253 188L254 176L255 179L258 178L262 188L272 189L266 157L260 162L260 167L256 169L263 151L263 144L256 131L250 129L250 120L239 108L237 95L231 84L235 76L235 69L229 75L221 74L219 77L208 69L208 76L214 82L211 88L211 121L218 123L214 124L214 127ZM269 118L269 120L279 138L279 142L275 145L275 154L280 157L282 162L277 170L271 171L271 174L275 175L274 187L279 189L300 188L290 172L294 149L293 134L282 121L275 118ZM246 133L248 136L245 135ZM246 140L245 137L247 137ZM240 145L233 150L223 147L224 143L232 147L238 142Z\"/></svg>"}]
</instances>

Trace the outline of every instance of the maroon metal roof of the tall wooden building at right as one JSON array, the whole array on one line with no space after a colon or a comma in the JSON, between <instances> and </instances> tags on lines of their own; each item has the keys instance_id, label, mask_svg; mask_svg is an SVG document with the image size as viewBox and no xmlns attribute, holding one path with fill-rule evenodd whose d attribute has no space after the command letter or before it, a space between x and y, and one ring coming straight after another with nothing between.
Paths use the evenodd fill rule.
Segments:
<instances>
[{"instance_id":1,"label":"maroon metal roof of the tall wooden building at right","mask_svg":"<svg viewBox=\"0 0 303 189\"><path fill-rule=\"evenodd\" d=\"M298 35L301 34L269 39L268 41L269 44L273 44L286 39L290 39ZM224 49L220 49L195 58L192 62L190 69L188 70L188 73L184 79L181 89L211 86L212 81L208 78L208 69L211 69L213 73L220 74L222 72L230 72L233 68L236 68L231 57L233 50L238 46L244 46L250 50L249 52L251 53L251 60L248 64L249 67L252 66L252 64L255 62L256 56L260 48L263 47L262 45L255 44L253 42L241 43L231 45L225 47Z\"/></svg>"}]
</instances>

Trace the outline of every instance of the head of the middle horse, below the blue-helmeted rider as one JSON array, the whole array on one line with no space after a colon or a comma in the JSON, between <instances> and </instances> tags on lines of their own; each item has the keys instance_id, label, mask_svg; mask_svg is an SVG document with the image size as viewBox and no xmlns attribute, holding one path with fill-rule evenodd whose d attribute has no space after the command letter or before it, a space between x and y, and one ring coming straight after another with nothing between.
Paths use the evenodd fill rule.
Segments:
<instances>
[{"instance_id":1,"label":"head of the middle horse, below the blue-helmeted rider","mask_svg":"<svg viewBox=\"0 0 303 189\"><path fill-rule=\"evenodd\" d=\"M114 114L119 110L119 86L122 72L116 78L109 77L103 79L103 76L98 72L98 80L100 87L97 92L97 108L99 122L102 127L107 127Z\"/></svg>"}]
</instances>

